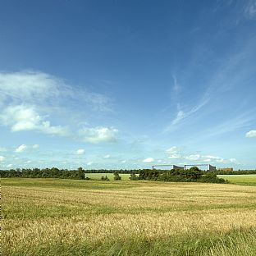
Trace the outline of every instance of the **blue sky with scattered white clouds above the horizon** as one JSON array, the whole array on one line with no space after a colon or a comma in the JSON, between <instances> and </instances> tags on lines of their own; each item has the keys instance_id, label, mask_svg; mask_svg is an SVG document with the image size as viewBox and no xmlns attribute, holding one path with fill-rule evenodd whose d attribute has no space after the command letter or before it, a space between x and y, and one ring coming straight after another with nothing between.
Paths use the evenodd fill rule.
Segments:
<instances>
[{"instance_id":1,"label":"blue sky with scattered white clouds above the horizon","mask_svg":"<svg viewBox=\"0 0 256 256\"><path fill-rule=\"evenodd\" d=\"M1 1L0 166L256 168L256 1Z\"/></svg>"}]
</instances>

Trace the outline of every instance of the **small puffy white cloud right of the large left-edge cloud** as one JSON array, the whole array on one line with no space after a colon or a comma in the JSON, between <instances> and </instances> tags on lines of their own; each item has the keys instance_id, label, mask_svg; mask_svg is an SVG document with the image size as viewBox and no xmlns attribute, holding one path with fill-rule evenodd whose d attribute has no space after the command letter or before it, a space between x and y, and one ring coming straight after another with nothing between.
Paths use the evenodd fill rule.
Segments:
<instances>
[{"instance_id":1,"label":"small puffy white cloud right of the large left-edge cloud","mask_svg":"<svg viewBox=\"0 0 256 256\"><path fill-rule=\"evenodd\" d=\"M79 130L81 140L93 144L117 142L117 133L113 127L102 126Z\"/></svg>"}]
</instances>

